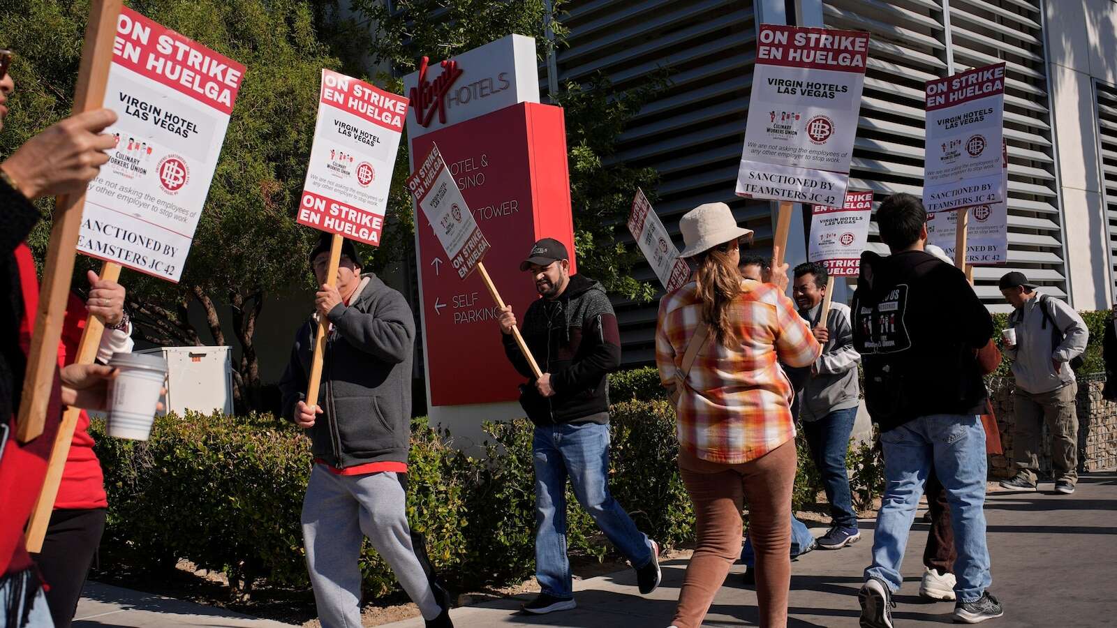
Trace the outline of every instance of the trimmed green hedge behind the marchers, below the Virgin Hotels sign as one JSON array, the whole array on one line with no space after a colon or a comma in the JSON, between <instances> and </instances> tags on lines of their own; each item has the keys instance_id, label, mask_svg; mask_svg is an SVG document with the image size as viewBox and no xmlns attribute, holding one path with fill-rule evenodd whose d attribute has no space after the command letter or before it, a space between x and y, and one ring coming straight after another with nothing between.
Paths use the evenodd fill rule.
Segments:
<instances>
[{"instance_id":1,"label":"trimmed green hedge behind the marchers, below the Virgin Hotels sign","mask_svg":"<svg viewBox=\"0 0 1117 628\"><path fill-rule=\"evenodd\" d=\"M666 400L630 399L612 409L613 495L663 548L694 539L674 424ZM424 419L412 424L408 518L424 534L436 568L470 589L519 581L534 570L532 427L517 420L486 430L489 456L478 459L447 446ZM93 434L108 492L106 543L153 564L188 559L226 571L239 591L260 579L307 584L299 513L311 451L300 430L270 415L191 412L157 419L146 443L108 438L99 421ZM875 460L868 449L850 456L862 505L879 493ZM813 504L819 491L802 446L800 462L796 510ZM567 501L571 552L604 556L610 546L570 493ZM367 544L361 570L372 596L397 586Z\"/></svg>"}]
</instances>

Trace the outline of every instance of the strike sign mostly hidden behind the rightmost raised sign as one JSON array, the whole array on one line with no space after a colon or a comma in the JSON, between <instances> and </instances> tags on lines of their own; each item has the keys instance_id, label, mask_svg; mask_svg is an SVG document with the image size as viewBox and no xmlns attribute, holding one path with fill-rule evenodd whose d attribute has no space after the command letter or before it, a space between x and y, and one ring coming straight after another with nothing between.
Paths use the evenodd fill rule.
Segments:
<instances>
[{"instance_id":1,"label":"strike sign mostly hidden behind the rightmost raised sign","mask_svg":"<svg viewBox=\"0 0 1117 628\"><path fill-rule=\"evenodd\" d=\"M1002 145L1002 177L1009 181L1009 160ZM965 210L927 215L927 244L936 245L954 259L957 244L958 212L968 211L966 223L966 264L982 266L1009 261L1009 203L999 201Z\"/></svg>"}]
</instances>

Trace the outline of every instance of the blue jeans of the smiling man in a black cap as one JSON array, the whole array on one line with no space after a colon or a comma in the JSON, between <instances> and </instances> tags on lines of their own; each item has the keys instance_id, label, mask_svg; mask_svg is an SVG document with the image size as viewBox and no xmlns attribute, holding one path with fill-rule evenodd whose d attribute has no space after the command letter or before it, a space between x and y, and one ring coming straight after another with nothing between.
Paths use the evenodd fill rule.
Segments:
<instances>
[{"instance_id":1,"label":"blue jeans of the smiling man in a black cap","mask_svg":"<svg viewBox=\"0 0 1117 628\"><path fill-rule=\"evenodd\" d=\"M566 478L574 496L620 553L640 568L651 541L609 494L609 426L560 424L535 428L535 579L543 592L572 598L566 559Z\"/></svg>"}]
</instances>

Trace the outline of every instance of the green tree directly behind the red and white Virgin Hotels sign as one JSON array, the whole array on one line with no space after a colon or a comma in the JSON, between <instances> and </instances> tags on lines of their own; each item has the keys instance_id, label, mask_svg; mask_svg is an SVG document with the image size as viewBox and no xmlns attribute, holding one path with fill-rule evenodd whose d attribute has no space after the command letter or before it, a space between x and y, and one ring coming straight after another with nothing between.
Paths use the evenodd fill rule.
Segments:
<instances>
[{"instance_id":1,"label":"green tree directly behind the red and white Virgin Hotels sign","mask_svg":"<svg viewBox=\"0 0 1117 628\"><path fill-rule=\"evenodd\" d=\"M354 0L351 7L360 23L372 34L369 57L392 76L383 80L402 93L400 77L414 72L420 59L431 63L459 55L507 35L535 38L538 58L565 45L567 29L562 23L564 0L553 0L555 18L548 22L542 0ZM547 37L550 23L554 34ZM579 270L600 279L614 295L650 299L656 286L638 282L631 269L641 257L634 247L618 242L637 188L655 200L658 173L655 169L633 169L610 160L626 124L640 107L665 85L663 76L653 76L641 87L617 89L604 76L586 84L565 83L552 101L564 108L566 146L570 161L571 203ZM395 173L407 172L407 142L400 146ZM389 203L390 218L398 241L410 242L413 234L412 203L401 185L394 187ZM384 258L401 255L391 247L378 251Z\"/></svg>"}]
</instances>

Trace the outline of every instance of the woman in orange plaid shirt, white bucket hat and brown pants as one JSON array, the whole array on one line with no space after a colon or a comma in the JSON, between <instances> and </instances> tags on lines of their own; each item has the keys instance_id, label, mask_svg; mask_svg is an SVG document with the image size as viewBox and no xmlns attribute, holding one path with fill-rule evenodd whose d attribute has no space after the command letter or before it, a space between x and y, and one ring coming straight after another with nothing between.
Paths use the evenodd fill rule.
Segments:
<instances>
[{"instance_id":1,"label":"woman in orange plaid shirt, white bucket hat and brown pants","mask_svg":"<svg viewBox=\"0 0 1117 628\"><path fill-rule=\"evenodd\" d=\"M795 479L794 397L780 363L809 367L822 352L784 294L787 265L772 284L737 270L737 227L725 203L703 204L679 221L695 278L659 303L656 362L677 396L679 470L694 502L698 548L687 567L674 626L701 624L741 554L741 512L748 499L756 550L761 626L787 622L791 489ZM689 369L685 355L699 345Z\"/></svg>"}]
</instances>

